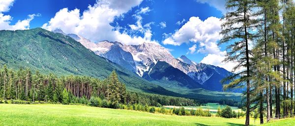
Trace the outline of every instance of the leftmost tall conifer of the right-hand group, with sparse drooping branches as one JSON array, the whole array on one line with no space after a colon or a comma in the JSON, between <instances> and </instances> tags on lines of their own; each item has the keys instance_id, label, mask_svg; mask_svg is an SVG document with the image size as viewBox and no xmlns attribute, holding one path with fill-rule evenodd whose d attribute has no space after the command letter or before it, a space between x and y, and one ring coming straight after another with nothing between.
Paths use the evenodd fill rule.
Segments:
<instances>
[{"instance_id":1,"label":"leftmost tall conifer of the right-hand group, with sparse drooping branches","mask_svg":"<svg viewBox=\"0 0 295 126\"><path fill-rule=\"evenodd\" d=\"M228 12L224 16L225 23L222 24L221 34L223 38L220 44L228 43L226 59L224 61L235 61L238 65L235 66L234 72L242 67L246 70L239 72L233 76L229 76L227 80L234 80L224 86L234 88L246 82L246 121L245 126L249 126L250 117L250 50L248 43L252 41L254 35L251 32L257 25L254 20L252 9L255 5L255 0L227 0L226 8ZM236 79L236 76L240 78Z\"/></svg>"}]
</instances>

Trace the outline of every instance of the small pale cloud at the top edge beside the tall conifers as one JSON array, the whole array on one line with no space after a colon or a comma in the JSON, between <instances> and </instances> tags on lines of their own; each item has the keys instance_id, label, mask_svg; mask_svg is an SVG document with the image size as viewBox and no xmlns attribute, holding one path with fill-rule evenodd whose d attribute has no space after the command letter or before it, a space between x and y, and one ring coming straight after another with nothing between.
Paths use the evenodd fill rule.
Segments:
<instances>
[{"instance_id":1,"label":"small pale cloud at the top edge beside the tall conifers","mask_svg":"<svg viewBox=\"0 0 295 126\"><path fill-rule=\"evenodd\" d=\"M197 0L200 3L207 3L212 7L215 7L217 10L220 10L223 14L226 13L225 0Z\"/></svg>"}]
</instances>

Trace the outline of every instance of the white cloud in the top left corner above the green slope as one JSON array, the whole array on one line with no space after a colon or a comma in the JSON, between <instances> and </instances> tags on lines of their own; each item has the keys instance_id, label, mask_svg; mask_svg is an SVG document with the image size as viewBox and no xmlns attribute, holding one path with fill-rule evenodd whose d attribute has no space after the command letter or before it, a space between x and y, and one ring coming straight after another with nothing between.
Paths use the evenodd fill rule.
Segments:
<instances>
[{"instance_id":1,"label":"white cloud in the top left corner above the green slope","mask_svg":"<svg viewBox=\"0 0 295 126\"><path fill-rule=\"evenodd\" d=\"M40 14L28 15L25 20L19 20L14 25L11 25L13 17L10 15L4 15L2 12L8 12L10 7L13 5L14 0L0 0L0 30L24 30L29 29L29 23L34 19L35 16L40 16Z\"/></svg>"}]
</instances>

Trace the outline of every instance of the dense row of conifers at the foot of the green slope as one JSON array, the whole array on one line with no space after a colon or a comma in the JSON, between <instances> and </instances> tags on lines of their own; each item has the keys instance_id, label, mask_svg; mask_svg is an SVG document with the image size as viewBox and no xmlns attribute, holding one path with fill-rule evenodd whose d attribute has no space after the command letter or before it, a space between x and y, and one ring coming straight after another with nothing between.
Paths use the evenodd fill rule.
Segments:
<instances>
[{"instance_id":1,"label":"dense row of conifers at the foot of the green slope","mask_svg":"<svg viewBox=\"0 0 295 126\"><path fill-rule=\"evenodd\" d=\"M15 71L6 65L0 69L1 100L88 104L91 97L108 101L112 107L118 107L119 103L148 106L199 105L196 101L185 98L126 91L125 84L118 80L115 71L101 80L89 76L45 75L39 71L33 73L29 68Z\"/></svg>"}]
</instances>

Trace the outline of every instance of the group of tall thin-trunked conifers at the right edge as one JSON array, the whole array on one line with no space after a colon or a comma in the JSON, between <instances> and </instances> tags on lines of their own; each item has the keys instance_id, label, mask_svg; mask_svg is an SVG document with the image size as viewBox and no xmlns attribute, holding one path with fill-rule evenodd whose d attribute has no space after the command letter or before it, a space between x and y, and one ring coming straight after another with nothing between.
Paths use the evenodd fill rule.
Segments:
<instances>
[{"instance_id":1,"label":"group of tall thin-trunked conifers at the right edge","mask_svg":"<svg viewBox=\"0 0 295 126\"><path fill-rule=\"evenodd\" d=\"M293 116L294 0L227 0L226 8L220 44L228 45L225 61L237 65L224 88L247 89L245 125L252 110L259 112L261 124L265 113L267 122Z\"/></svg>"}]
</instances>

